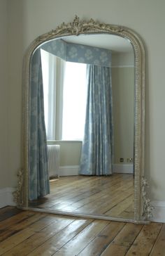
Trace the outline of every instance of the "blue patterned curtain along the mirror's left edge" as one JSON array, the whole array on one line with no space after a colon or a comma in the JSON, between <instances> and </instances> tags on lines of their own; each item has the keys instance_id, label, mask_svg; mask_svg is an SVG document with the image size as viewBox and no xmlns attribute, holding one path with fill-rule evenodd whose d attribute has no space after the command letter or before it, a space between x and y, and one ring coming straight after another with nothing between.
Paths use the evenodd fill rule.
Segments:
<instances>
[{"instance_id":1,"label":"blue patterned curtain along the mirror's left edge","mask_svg":"<svg viewBox=\"0 0 165 256\"><path fill-rule=\"evenodd\" d=\"M29 200L50 193L48 151L43 106L41 52L36 50L31 60L29 94Z\"/></svg>"}]
</instances>

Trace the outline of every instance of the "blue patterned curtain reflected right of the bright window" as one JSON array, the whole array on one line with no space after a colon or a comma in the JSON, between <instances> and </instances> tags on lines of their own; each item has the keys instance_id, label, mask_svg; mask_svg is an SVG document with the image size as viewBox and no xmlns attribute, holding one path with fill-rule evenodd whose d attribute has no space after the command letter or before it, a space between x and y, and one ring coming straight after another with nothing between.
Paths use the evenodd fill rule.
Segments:
<instances>
[{"instance_id":1,"label":"blue patterned curtain reflected right of the bright window","mask_svg":"<svg viewBox=\"0 0 165 256\"><path fill-rule=\"evenodd\" d=\"M80 174L110 175L113 162L110 68L88 65L87 69L87 110Z\"/></svg>"}]
</instances>

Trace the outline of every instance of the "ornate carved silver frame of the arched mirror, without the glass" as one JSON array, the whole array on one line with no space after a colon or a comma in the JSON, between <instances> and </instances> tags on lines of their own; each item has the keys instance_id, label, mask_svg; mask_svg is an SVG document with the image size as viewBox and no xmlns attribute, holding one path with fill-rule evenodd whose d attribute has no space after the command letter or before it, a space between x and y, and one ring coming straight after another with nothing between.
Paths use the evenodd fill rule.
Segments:
<instances>
[{"instance_id":1,"label":"ornate carved silver frame of the arched mirror, without the glass","mask_svg":"<svg viewBox=\"0 0 165 256\"><path fill-rule=\"evenodd\" d=\"M45 41L79 34L115 34L128 39L134 49L135 73L134 73L134 219L122 219L122 221L141 223L150 219L152 207L145 192L147 182L144 178L144 140L145 140L145 49L138 35L127 27L99 23L94 20L80 20L76 16L72 23L62 23L55 30L41 35L35 39L24 56L23 69L23 167L18 172L17 191L14 192L14 200L18 207L28 209L28 173L29 173L29 82L31 56L35 49ZM44 211L44 210L43 210ZM47 211L48 212L48 211ZM64 214L64 212L55 212ZM67 214L68 215L68 214ZM76 214L75 214L76 215ZM80 216L80 215L79 215ZM87 217L87 216L86 216ZM94 217L90 215L89 217ZM100 217L112 219L110 217ZM113 220L121 220L113 218Z\"/></svg>"}]
</instances>

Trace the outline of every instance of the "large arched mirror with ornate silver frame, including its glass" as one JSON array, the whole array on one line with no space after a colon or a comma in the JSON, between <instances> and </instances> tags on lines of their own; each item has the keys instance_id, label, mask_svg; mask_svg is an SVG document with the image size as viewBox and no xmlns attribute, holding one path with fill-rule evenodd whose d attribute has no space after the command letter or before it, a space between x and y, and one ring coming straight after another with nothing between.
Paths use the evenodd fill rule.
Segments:
<instances>
[{"instance_id":1,"label":"large arched mirror with ornate silver frame, including its glass","mask_svg":"<svg viewBox=\"0 0 165 256\"><path fill-rule=\"evenodd\" d=\"M145 51L132 30L83 21L24 58L24 209L145 222Z\"/></svg>"}]
</instances>

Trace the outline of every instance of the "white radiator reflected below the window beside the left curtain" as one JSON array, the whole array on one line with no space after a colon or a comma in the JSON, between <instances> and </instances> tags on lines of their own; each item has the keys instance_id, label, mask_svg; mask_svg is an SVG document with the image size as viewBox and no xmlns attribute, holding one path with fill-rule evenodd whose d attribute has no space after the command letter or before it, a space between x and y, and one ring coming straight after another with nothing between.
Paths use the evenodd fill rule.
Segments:
<instances>
[{"instance_id":1,"label":"white radiator reflected below the window beside the left curtain","mask_svg":"<svg viewBox=\"0 0 165 256\"><path fill-rule=\"evenodd\" d=\"M59 145L48 145L49 176L59 177Z\"/></svg>"}]
</instances>

